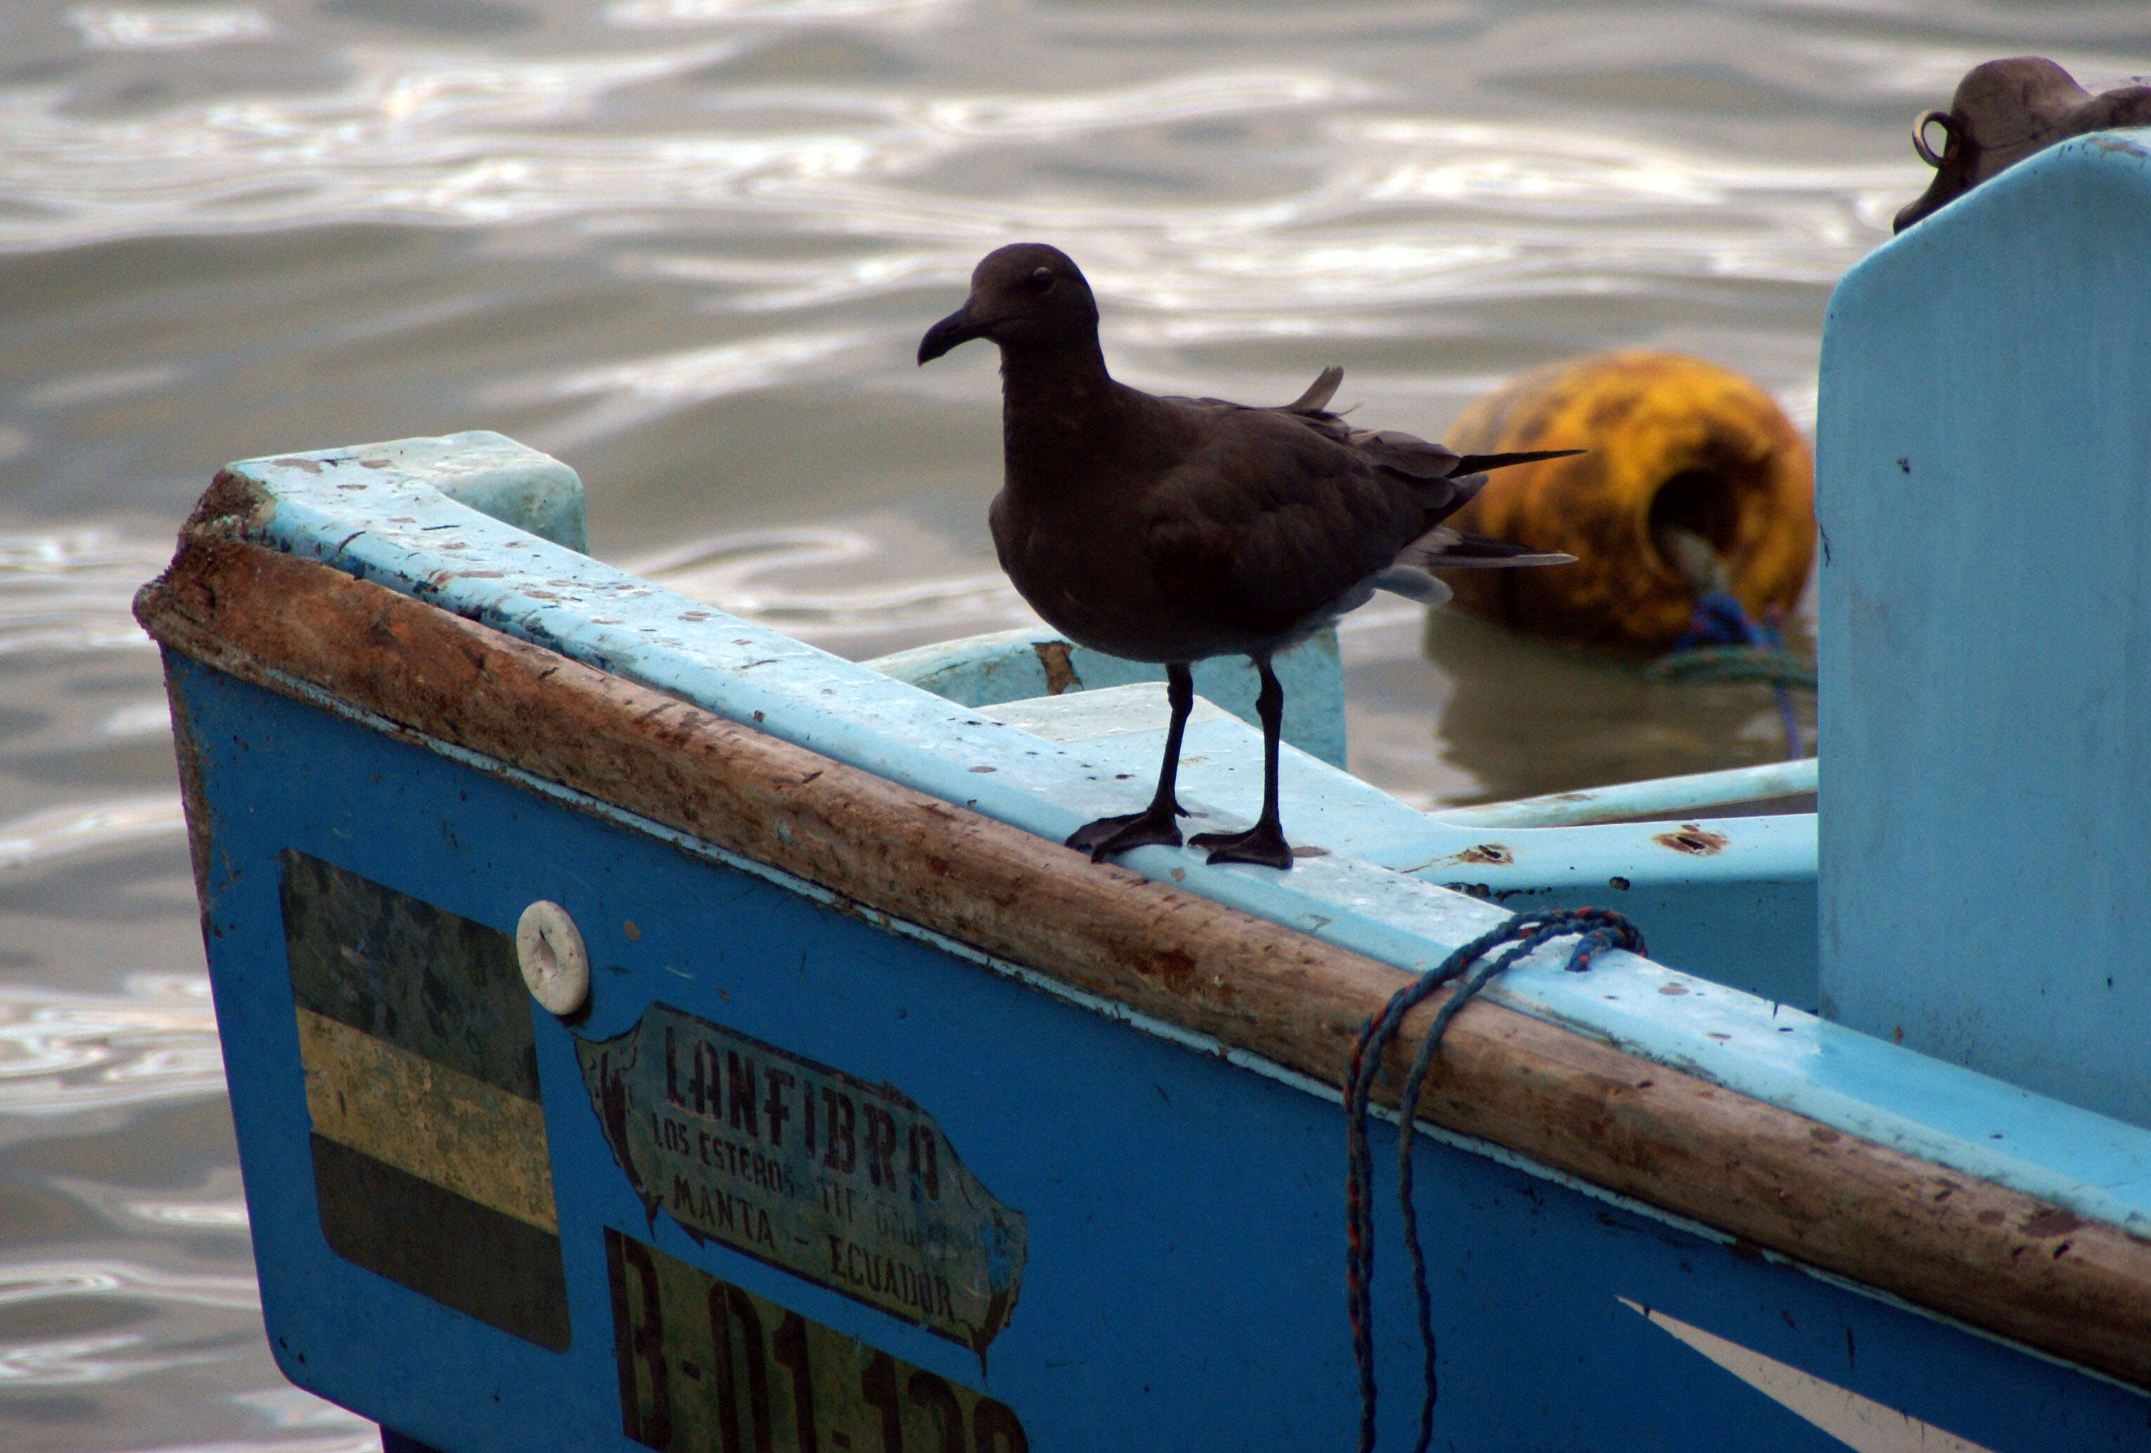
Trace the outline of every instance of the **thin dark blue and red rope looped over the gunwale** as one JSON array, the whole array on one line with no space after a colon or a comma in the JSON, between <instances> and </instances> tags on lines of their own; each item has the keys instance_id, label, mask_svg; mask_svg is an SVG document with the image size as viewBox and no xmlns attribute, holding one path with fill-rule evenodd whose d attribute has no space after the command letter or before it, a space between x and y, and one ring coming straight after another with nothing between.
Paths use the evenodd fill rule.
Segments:
<instances>
[{"instance_id":1,"label":"thin dark blue and red rope looped over the gunwale","mask_svg":"<svg viewBox=\"0 0 2151 1453\"><path fill-rule=\"evenodd\" d=\"M1443 984L1467 975L1480 958L1493 954L1504 943L1508 945L1499 956L1488 958L1478 971L1471 971L1456 992L1450 994L1450 1001L1435 1012L1435 1022L1426 1029L1426 1040L1420 1042L1420 1053L1411 1061L1411 1074L1405 1076L1405 1089L1396 1104L1396 1197L1405 1212L1405 1253L1411 1259L1411 1289L1420 1307L1420 1345L1426 1350L1426 1393L1420 1401L1420 1440L1413 1444L1413 1453L1426 1453L1426 1444L1435 1431L1437 1380L1435 1313L1433 1300L1426 1294L1426 1255L1420 1251L1418 1216L1411 1210L1411 1122L1420 1106L1420 1085L1426 1081L1426 1070L1433 1066L1441 1035L1448 1031L1450 1020L1456 1018L1456 1012L1486 988L1488 979L1519 958L1568 934L1577 934L1577 945L1568 954L1568 973L1590 969L1592 956L1602 949L1643 951L1643 930L1611 908L1519 913L1508 923L1480 934L1396 990L1381 1014L1368 1016L1366 1025L1359 1027L1359 1040L1351 1050L1351 1072L1344 1083L1344 1300L1351 1320L1353 1360L1359 1367L1359 1453L1372 1453L1374 1449L1374 1154L1368 1143L1366 1122L1374 1076L1381 1072L1381 1057L1405 1022L1405 1014Z\"/></svg>"}]
</instances>

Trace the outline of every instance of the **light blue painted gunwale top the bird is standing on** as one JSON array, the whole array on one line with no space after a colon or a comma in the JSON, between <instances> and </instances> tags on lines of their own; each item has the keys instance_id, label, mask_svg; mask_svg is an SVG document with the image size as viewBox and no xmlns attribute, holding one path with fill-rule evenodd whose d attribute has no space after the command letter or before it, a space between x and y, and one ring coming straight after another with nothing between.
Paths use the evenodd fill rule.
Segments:
<instances>
[{"instance_id":1,"label":"light blue painted gunwale top the bird is standing on","mask_svg":"<svg viewBox=\"0 0 2151 1453\"><path fill-rule=\"evenodd\" d=\"M458 439L508 443L499 435ZM250 538L1000 822L1060 840L1097 812L1131 809L1149 794L1149 732L1054 743L987 715L994 708L944 702L458 504L437 489L441 459L439 450L409 443L361 446L230 469L258 495ZM527 459L531 469L561 469L542 454ZM1252 745L1254 734L1239 721L1200 723L1190 734L1190 758L1202 760L1190 762L1183 801L1217 820L1245 820L1252 794L1233 788L1254 781ZM1443 859L1482 844L1486 829L1441 824L1306 753L1288 758L1286 794L1295 835L1329 846L1288 874L1209 867L1198 852L1172 848L1142 848L1123 863L1409 973L1508 917L1493 902L1439 887L1454 867ZM1624 857L1650 872L1753 876L1734 848L1673 855L1650 844L1650 827L1532 829L1529 837L1519 831L1504 842L1519 844L1512 852L1532 844L1529 855L1547 852L1547 865L1568 867L1579 883L1609 867L1620 872ZM1805 852L1813 872L1813 818L1725 818L1708 827L1736 846L1753 840L1757 852L1790 867ZM1493 867L1473 865L1471 876L1486 872ZM1637 880L1641 872L1628 863L1626 876ZM1536 1018L1938 1167L2151 1233L2151 1132L2134 1126L1628 954L1570 975L1557 969L1557 951L1542 951L1488 992Z\"/></svg>"}]
</instances>

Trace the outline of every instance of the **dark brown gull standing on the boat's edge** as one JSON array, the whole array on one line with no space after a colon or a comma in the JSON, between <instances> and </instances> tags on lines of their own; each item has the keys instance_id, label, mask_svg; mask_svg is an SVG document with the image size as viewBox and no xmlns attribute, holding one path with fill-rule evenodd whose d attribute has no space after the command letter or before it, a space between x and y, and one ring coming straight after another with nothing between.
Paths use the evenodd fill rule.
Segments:
<instances>
[{"instance_id":1,"label":"dark brown gull standing on the boat's edge","mask_svg":"<svg viewBox=\"0 0 2151 1453\"><path fill-rule=\"evenodd\" d=\"M1377 590L1445 601L1430 570L1566 564L1568 555L1441 525L1486 469L1575 450L1458 456L1329 411L1342 368L1276 409L1159 398L1116 383L1097 344L1097 301L1076 263L1043 243L987 254L961 308L927 329L918 362L959 342L1000 344L1007 478L989 523L1015 590L1078 646L1166 667L1166 756L1151 805L1099 818L1067 844L1093 859L1179 846L1181 734L1190 665L1248 657L1260 676L1263 814L1243 833L1200 833L1211 863L1291 867L1278 822L1284 689L1269 659Z\"/></svg>"}]
</instances>

